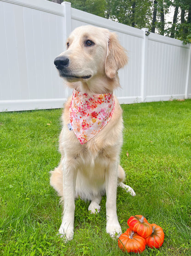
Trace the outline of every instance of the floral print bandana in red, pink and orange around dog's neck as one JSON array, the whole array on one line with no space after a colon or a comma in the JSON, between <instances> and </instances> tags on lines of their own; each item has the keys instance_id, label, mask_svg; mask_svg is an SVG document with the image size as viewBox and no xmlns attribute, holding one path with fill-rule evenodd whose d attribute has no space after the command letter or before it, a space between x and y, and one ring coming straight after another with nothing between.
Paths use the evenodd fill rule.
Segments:
<instances>
[{"instance_id":1,"label":"floral print bandana in red, pink and orange around dog's neck","mask_svg":"<svg viewBox=\"0 0 191 256\"><path fill-rule=\"evenodd\" d=\"M112 117L115 101L112 93L95 94L91 97L73 89L70 104L70 124L81 144L94 137Z\"/></svg>"}]
</instances>

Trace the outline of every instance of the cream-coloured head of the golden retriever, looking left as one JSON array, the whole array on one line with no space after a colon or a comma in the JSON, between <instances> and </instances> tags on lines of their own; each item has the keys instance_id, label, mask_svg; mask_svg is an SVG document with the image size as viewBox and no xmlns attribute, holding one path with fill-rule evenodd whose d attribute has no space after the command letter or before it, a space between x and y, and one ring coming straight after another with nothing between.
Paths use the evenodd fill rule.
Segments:
<instances>
[{"instance_id":1,"label":"cream-coloured head of the golden retriever, looking left","mask_svg":"<svg viewBox=\"0 0 191 256\"><path fill-rule=\"evenodd\" d=\"M95 76L113 79L127 63L127 55L117 35L107 29L81 26L67 39L67 50L54 64L68 82L88 81Z\"/></svg>"}]
</instances>

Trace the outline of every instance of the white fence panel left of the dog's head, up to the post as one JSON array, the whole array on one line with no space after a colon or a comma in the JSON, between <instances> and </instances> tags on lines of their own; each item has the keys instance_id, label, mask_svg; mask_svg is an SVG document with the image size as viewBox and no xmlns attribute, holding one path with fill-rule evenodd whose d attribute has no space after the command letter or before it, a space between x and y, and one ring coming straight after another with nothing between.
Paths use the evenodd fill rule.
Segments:
<instances>
[{"instance_id":1,"label":"white fence panel left of the dog's head, up to the post","mask_svg":"<svg viewBox=\"0 0 191 256\"><path fill-rule=\"evenodd\" d=\"M30 3L0 1L0 111L61 107L67 98L53 63L63 49L63 7Z\"/></svg>"}]
</instances>

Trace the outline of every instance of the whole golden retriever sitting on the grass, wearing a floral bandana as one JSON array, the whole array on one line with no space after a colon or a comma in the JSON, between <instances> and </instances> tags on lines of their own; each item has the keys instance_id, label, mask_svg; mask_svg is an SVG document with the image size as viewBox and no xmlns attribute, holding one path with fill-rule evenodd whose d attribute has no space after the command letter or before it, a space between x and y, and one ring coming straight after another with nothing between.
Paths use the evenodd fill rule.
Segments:
<instances>
[{"instance_id":1,"label":"whole golden retriever sitting on the grass, wearing a floral bandana","mask_svg":"<svg viewBox=\"0 0 191 256\"><path fill-rule=\"evenodd\" d=\"M120 86L118 69L127 64L127 55L115 33L88 25L73 30L67 39L67 50L54 60L54 64L74 92L62 114L61 161L51 172L51 186L63 202L59 233L65 241L73 239L75 198L90 200L88 209L98 213L101 196L106 193L106 231L111 237L118 237L122 230L116 212L117 186L135 196L134 190L122 183L125 179L119 165L123 141L122 109L113 96L113 90ZM76 97L79 97L77 103ZM98 110L95 102L100 107ZM103 109L102 103L105 104ZM92 109L96 110L92 112ZM80 123L83 114L84 120L87 116L91 124ZM99 129L91 130L93 136L89 138L87 127L94 122L97 125L94 127ZM84 141L80 140L82 136Z\"/></svg>"}]
</instances>

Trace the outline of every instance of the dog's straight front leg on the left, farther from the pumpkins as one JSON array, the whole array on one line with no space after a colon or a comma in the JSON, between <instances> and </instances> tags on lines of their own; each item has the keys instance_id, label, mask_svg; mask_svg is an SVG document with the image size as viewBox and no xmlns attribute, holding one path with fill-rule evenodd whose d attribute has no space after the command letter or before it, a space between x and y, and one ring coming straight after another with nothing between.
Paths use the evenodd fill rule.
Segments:
<instances>
[{"instance_id":1,"label":"dog's straight front leg on the left, farther from the pumpkins","mask_svg":"<svg viewBox=\"0 0 191 256\"><path fill-rule=\"evenodd\" d=\"M69 241L73 239L77 163L73 159L65 156L62 166L64 211L59 233L65 241Z\"/></svg>"}]
</instances>

